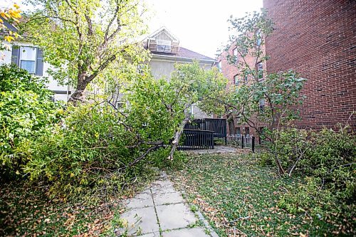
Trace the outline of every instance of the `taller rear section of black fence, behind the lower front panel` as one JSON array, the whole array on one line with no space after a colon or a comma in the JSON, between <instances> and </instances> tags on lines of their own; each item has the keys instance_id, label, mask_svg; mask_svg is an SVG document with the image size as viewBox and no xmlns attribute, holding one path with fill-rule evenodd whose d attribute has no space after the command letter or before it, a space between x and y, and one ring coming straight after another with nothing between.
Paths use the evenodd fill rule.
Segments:
<instances>
[{"instance_id":1,"label":"taller rear section of black fence, behind the lower front panel","mask_svg":"<svg viewBox=\"0 0 356 237\"><path fill-rule=\"evenodd\" d=\"M204 118L192 120L192 122L185 125L184 129L213 131L214 137L224 138L226 143L226 119Z\"/></svg>"}]
</instances>

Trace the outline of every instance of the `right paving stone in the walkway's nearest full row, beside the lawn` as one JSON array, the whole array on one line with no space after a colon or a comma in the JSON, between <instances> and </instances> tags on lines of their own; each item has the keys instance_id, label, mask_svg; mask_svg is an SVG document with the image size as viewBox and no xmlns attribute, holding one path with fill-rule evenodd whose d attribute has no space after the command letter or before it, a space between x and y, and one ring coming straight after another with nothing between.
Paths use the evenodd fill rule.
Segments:
<instances>
[{"instance_id":1,"label":"right paving stone in the walkway's nearest full row, beside the lawn","mask_svg":"<svg viewBox=\"0 0 356 237\"><path fill-rule=\"evenodd\" d=\"M163 231L184 228L197 221L192 211L184 204L156 206L156 210Z\"/></svg>"}]
</instances>

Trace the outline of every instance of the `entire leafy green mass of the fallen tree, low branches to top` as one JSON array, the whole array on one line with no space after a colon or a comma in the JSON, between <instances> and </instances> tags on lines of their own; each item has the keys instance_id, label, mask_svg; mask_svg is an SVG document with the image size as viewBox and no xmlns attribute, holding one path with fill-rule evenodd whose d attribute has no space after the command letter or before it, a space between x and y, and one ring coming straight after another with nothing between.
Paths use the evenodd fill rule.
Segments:
<instances>
[{"instance_id":1,"label":"entire leafy green mass of the fallen tree, low branches to top","mask_svg":"<svg viewBox=\"0 0 356 237\"><path fill-rule=\"evenodd\" d=\"M132 181L151 179L156 172L152 167L182 163L179 152L177 160L168 161L169 150L157 145L169 144L187 103L200 101L208 83L219 80L219 73L205 72L199 63L177 65L169 82L136 73L126 85L130 106L124 111L106 100L67 105L61 122L42 126L37 137L21 139L13 155L23 161L19 172L49 184L48 195L64 200L99 201L100 195L118 194Z\"/></svg>"}]
</instances>

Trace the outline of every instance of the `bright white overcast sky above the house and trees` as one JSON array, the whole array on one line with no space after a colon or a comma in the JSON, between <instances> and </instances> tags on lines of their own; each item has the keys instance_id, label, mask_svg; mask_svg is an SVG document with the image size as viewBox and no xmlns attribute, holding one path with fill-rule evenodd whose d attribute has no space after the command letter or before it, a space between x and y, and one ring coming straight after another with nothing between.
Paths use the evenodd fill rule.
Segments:
<instances>
[{"instance_id":1,"label":"bright white overcast sky above the house and trees","mask_svg":"<svg viewBox=\"0 0 356 237\"><path fill-rule=\"evenodd\" d=\"M0 0L0 6L21 4L21 0ZM23 1L23 0L22 0ZM258 11L263 0L142 0L150 9L147 22L154 32L166 26L180 45L197 53L215 58L216 50L229 38L227 19ZM21 6L21 9L27 9Z\"/></svg>"}]
</instances>

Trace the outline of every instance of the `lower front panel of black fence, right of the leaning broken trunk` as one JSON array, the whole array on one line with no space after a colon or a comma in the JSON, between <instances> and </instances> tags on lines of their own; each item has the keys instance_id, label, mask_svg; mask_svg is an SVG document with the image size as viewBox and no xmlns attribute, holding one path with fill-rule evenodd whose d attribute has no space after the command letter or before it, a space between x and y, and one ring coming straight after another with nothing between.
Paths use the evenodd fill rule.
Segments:
<instances>
[{"instance_id":1,"label":"lower front panel of black fence, right of the leaning broken trunk","mask_svg":"<svg viewBox=\"0 0 356 237\"><path fill-rule=\"evenodd\" d=\"M184 129L178 149L214 149L214 132Z\"/></svg>"}]
</instances>

